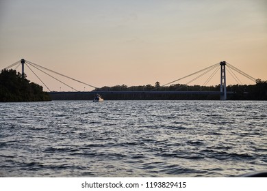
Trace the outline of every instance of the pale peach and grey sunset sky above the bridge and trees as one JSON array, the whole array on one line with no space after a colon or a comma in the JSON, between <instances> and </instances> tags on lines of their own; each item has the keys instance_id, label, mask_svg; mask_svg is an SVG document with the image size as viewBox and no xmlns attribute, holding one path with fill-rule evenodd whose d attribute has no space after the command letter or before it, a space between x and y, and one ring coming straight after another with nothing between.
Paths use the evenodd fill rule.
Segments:
<instances>
[{"instance_id":1,"label":"pale peach and grey sunset sky above the bridge and trees","mask_svg":"<svg viewBox=\"0 0 267 191\"><path fill-rule=\"evenodd\" d=\"M267 80L267 1L0 0L0 69L20 59L95 87L164 85L220 61ZM72 91L31 69L49 89ZM42 85L29 68L25 73ZM217 73L207 85L220 83ZM237 82L227 74L226 83Z\"/></svg>"}]
</instances>

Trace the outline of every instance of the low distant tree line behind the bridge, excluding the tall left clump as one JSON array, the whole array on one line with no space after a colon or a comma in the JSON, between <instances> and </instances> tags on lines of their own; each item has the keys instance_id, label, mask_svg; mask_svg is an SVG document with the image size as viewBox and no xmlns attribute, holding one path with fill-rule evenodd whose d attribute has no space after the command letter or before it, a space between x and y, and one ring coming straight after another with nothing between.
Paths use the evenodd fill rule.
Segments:
<instances>
[{"instance_id":1,"label":"low distant tree line behind the bridge, excluding the tall left clump","mask_svg":"<svg viewBox=\"0 0 267 191\"><path fill-rule=\"evenodd\" d=\"M144 93L144 91L218 91L220 85L199 86L175 84L161 87L159 82L153 85L139 85L127 87L116 85L114 87L101 87L94 91L118 91L118 93L101 93L105 100L220 100L220 94L175 94L175 93ZM140 91L140 93L119 93L120 91ZM229 85L227 86L227 100L267 100L267 81L256 80L255 85ZM52 100L92 100L93 94L86 92L53 92Z\"/></svg>"}]
</instances>

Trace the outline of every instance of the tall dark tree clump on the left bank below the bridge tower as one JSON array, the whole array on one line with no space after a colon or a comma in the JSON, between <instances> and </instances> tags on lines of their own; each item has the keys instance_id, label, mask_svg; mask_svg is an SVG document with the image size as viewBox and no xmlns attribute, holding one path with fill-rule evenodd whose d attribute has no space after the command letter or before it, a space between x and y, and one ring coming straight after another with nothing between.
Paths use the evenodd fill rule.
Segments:
<instances>
[{"instance_id":1,"label":"tall dark tree clump on the left bank below the bridge tower","mask_svg":"<svg viewBox=\"0 0 267 191\"><path fill-rule=\"evenodd\" d=\"M0 73L0 102L36 102L51 100L42 86L30 83L27 76L16 70L2 70Z\"/></svg>"}]
</instances>

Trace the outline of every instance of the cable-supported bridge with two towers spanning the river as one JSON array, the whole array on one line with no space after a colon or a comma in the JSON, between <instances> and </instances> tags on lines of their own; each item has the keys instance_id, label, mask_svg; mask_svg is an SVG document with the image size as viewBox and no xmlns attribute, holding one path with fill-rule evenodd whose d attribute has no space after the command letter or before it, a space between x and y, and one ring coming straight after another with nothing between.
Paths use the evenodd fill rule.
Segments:
<instances>
[{"instance_id":1,"label":"cable-supported bridge with two towers spanning the river","mask_svg":"<svg viewBox=\"0 0 267 191\"><path fill-rule=\"evenodd\" d=\"M220 61L219 63L216 63L214 65L211 65L207 68L204 68L202 70L199 70L197 72L194 72L192 74L189 74L187 76L183 76L182 78L178 78L177 80L173 80L170 83L166 83L160 87L166 87L167 85L173 85L174 83L177 83L179 80L183 80L185 78L189 78L191 76L195 76L192 80L188 81L188 83L186 83L186 85L188 85L189 83L192 83L194 80L200 78L201 76L212 72L212 74L207 78L207 80L205 80L205 83L203 84L203 86L207 85L207 83L209 83L209 80L211 80L214 75L216 74L216 72L218 72L218 70L220 70L220 91L180 91L179 89L175 90L175 91L162 91L159 90L160 87L155 87L154 89L151 90L143 90L143 91L101 91L98 90L100 89L99 87L95 87L93 85L90 85L88 83L84 83L81 80L77 80L75 78L72 78L70 76L66 76L65 74L61 74L60 72L55 72L49 68L44 68L42 65L38 65L36 63L33 63L31 61L27 61L25 59L21 59L19 61L16 61L15 63L9 65L8 67L6 67L5 69L8 70L10 68L15 68L14 70L16 70L19 66L21 66L21 73L25 74L25 66L27 68L29 68L29 70L31 70L31 72L40 80L40 82L42 83L42 85L44 85L44 87L46 87L48 89L48 91L51 94L59 94L59 93L73 93L73 92L62 92L62 91L51 91L48 87L48 85L46 85L44 83L44 81L36 74L36 72L34 72L34 70L38 70L40 72L42 72L43 74L46 74L47 76L53 78L54 80L57 80L59 83L62 83L63 85L66 85L66 87L71 88L72 90L78 92L78 93L89 93L89 94L96 94L96 93L101 93L101 94L219 94L220 95L220 100L227 100L227 94L231 94L233 92L228 91L227 92L227 85L226 85L226 71L229 72L229 74L231 74L231 76L236 80L236 82L238 84L242 84L242 82L240 81L240 79L238 78L238 76L236 76L236 74L233 72L238 72L239 74L241 74L242 76L245 76L246 78L249 78L249 80L252 80L255 83L255 78L253 78L252 76L250 76L249 74L246 74L245 72L242 72L241 70L239 70L238 68L234 67L233 65L231 65L230 63L227 63L226 61ZM33 69L34 68L34 69ZM52 75L54 74L54 75ZM75 89L74 87L72 87L71 85L68 85L67 83L63 82L62 80L58 79L57 77L55 77L55 75L58 76L62 76L64 78L68 78L69 80L73 80L77 83L81 83L83 85L86 85L88 87L94 88L93 91L78 91L77 89Z\"/></svg>"}]
</instances>

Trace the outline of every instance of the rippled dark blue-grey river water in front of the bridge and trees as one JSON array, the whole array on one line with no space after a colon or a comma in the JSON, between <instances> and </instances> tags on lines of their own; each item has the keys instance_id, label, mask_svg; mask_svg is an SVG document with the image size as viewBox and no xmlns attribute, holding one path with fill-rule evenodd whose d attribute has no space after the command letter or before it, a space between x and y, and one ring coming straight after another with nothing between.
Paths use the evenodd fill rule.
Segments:
<instances>
[{"instance_id":1,"label":"rippled dark blue-grey river water in front of the bridge and trees","mask_svg":"<svg viewBox=\"0 0 267 191\"><path fill-rule=\"evenodd\" d=\"M0 103L2 177L232 177L267 166L267 102Z\"/></svg>"}]
</instances>

